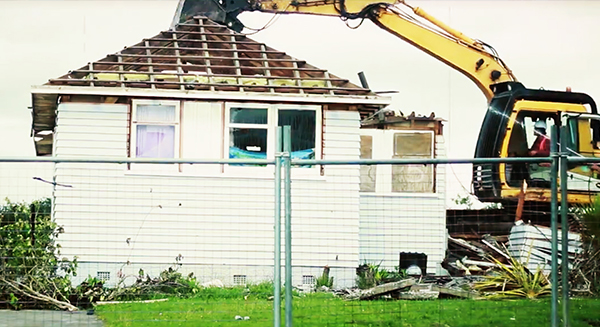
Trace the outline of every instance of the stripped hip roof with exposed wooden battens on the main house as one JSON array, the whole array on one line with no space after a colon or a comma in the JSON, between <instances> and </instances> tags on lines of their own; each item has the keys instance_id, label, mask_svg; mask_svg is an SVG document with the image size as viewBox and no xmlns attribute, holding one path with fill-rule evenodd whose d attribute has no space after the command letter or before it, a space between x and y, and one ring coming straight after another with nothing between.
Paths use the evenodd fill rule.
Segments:
<instances>
[{"instance_id":1,"label":"stripped hip roof with exposed wooden battens on the main house","mask_svg":"<svg viewBox=\"0 0 600 327\"><path fill-rule=\"evenodd\" d=\"M201 16L34 86L32 94L31 134L38 155L51 153L60 95L240 100L262 94L283 101L362 104L363 115L390 103Z\"/></svg>"}]
</instances>

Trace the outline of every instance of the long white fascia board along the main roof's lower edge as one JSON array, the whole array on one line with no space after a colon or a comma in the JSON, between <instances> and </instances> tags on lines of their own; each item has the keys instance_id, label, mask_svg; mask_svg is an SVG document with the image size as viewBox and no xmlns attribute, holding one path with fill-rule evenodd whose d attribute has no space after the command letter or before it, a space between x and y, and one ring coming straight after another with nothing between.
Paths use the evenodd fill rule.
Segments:
<instances>
[{"instance_id":1,"label":"long white fascia board along the main roof's lower edge","mask_svg":"<svg viewBox=\"0 0 600 327\"><path fill-rule=\"evenodd\" d=\"M177 98L190 100L223 100L223 101L268 101L268 102L298 102L298 103L343 103L387 106L391 97L378 95L329 95L329 94L298 94L298 93L259 93L231 91L195 91L170 89L140 89L98 86L58 86L39 85L31 87L32 95L107 95L129 97Z\"/></svg>"}]
</instances>

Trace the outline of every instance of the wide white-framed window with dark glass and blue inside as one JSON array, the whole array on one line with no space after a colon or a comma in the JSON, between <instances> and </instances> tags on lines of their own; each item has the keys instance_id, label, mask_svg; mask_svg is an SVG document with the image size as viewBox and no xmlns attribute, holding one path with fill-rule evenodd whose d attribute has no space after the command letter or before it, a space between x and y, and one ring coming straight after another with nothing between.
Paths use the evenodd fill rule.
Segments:
<instances>
[{"instance_id":1,"label":"wide white-framed window with dark glass and blue inside","mask_svg":"<svg viewBox=\"0 0 600 327\"><path fill-rule=\"evenodd\" d=\"M320 154L320 107L261 104L228 104L226 107L225 150L229 158L273 159L276 127L286 125L291 128L292 158L314 159Z\"/></svg>"}]
</instances>

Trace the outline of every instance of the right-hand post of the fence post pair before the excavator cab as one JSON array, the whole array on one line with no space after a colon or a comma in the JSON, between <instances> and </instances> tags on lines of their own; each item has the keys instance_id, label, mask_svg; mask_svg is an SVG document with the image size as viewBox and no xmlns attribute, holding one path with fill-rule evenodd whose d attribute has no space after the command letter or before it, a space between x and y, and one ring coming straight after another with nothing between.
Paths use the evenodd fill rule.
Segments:
<instances>
[{"instance_id":1,"label":"right-hand post of the fence post pair before the excavator cab","mask_svg":"<svg viewBox=\"0 0 600 327\"><path fill-rule=\"evenodd\" d=\"M562 279L562 305L563 305L563 326L569 326L569 221L567 211L569 204L567 202L568 186L567 186L567 171L568 167L568 148L567 140L570 139L568 127L561 126L560 128L560 220L561 220L561 279Z\"/></svg>"}]
</instances>

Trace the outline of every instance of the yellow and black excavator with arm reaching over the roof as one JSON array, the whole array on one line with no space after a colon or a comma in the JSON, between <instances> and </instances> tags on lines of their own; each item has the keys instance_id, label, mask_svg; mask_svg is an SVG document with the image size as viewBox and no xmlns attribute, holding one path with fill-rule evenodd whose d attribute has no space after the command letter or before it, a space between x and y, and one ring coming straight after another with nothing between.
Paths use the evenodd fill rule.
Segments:
<instances>
[{"instance_id":1,"label":"yellow and black excavator with arm reaching over the roof","mask_svg":"<svg viewBox=\"0 0 600 327\"><path fill-rule=\"evenodd\" d=\"M193 16L205 16L241 32L244 25L238 15L246 11L370 20L466 75L488 101L475 158L536 155L531 151L537 143L534 139L548 138L552 125L568 126L570 136L564 141L570 156L600 156L600 116L589 95L568 89L526 88L493 47L463 35L404 1L180 0L173 26ZM537 155L539 153L543 152ZM592 165L569 167L567 201L570 204L589 203L600 193L600 175L593 168ZM547 206L551 199L549 171L544 163L474 164L473 193L482 202L514 203L525 180L528 185L525 201Z\"/></svg>"}]
</instances>

